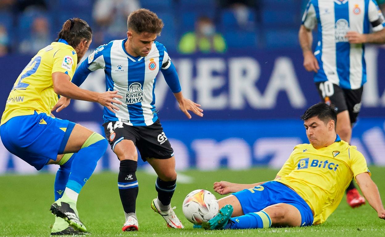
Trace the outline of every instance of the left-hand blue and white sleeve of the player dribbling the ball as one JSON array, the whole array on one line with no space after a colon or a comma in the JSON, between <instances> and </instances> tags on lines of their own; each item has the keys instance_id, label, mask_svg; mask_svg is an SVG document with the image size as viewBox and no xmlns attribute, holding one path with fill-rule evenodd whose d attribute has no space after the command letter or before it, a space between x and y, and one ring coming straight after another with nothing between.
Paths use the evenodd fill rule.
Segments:
<instances>
[{"instance_id":1,"label":"left-hand blue and white sleeve of the player dribbling the ball","mask_svg":"<svg viewBox=\"0 0 385 237\"><path fill-rule=\"evenodd\" d=\"M104 57L101 52L104 49L104 46L105 45L101 45L96 48L94 52L87 57L87 60L84 60L82 64L79 65L72 78L72 83L80 86L92 71L105 68Z\"/></svg>"}]
</instances>

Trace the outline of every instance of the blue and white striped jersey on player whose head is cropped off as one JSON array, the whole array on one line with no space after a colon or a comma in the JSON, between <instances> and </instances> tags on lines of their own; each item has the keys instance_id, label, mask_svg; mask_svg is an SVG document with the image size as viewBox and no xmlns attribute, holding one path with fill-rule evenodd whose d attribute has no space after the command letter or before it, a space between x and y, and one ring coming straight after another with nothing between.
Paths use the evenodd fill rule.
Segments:
<instances>
[{"instance_id":1,"label":"blue and white striped jersey on player whose head is cropped off","mask_svg":"<svg viewBox=\"0 0 385 237\"><path fill-rule=\"evenodd\" d=\"M370 33L384 28L383 15L375 0L310 0L302 24L318 27L314 55L320 70L315 82L330 81L344 89L358 89L366 82L363 44L350 44L348 31Z\"/></svg>"}]
</instances>

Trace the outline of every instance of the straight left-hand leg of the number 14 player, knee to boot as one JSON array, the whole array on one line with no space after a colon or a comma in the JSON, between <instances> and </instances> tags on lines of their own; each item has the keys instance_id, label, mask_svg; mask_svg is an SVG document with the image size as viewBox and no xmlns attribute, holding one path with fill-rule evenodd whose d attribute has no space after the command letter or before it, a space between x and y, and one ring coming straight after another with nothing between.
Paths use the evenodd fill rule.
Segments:
<instances>
[{"instance_id":1,"label":"straight left-hand leg of the number 14 player, knee to boot","mask_svg":"<svg viewBox=\"0 0 385 237\"><path fill-rule=\"evenodd\" d=\"M120 162L118 188L122 201L126 221L122 231L136 231L139 229L136 217L136 198L139 186L136 179L138 153L135 144L131 140L123 139L114 147L114 152Z\"/></svg>"}]
</instances>

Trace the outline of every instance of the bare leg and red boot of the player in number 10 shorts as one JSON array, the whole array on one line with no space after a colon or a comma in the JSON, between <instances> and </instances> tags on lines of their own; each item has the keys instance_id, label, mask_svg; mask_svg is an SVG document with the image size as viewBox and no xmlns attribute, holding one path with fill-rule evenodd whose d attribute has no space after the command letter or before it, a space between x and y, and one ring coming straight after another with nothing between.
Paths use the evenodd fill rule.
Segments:
<instances>
[{"instance_id":1,"label":"bare leg and red boot of the player in number 10 shorts","mask_svg":"<svg viewBox=\"0 0 385 237\"><path fill-rule=\"evenodd\" d=\"M341 140L350 144L352 139L352 124L350 123L349 112L347 110L337 114L337 134ZM359 207L365 204L365 198L360 195L353 181L346 189L346 201L351 207Z\"/></svg>"}]
</instances>

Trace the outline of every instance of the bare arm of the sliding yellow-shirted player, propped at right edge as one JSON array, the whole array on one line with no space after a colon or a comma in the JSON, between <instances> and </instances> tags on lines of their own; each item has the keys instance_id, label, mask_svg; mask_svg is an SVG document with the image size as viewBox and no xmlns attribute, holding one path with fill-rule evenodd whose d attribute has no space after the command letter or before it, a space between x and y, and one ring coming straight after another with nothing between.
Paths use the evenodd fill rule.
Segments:
<instances>
[{"instance_id":1,"label":"bare arm of the sliding yellow-shirted player, propped at right edge","mask_svg":"<svg viewBox=\"0 0 385 237\"><path fill-rule=\"evenodd\" d=\"M369 174L367 172L358 174L356 181L358 186L360 186L363 196L368 200L370 206L377 211L378 217L385 219L385 209L382 205L380 193Z\"/></svg>"}]
</instances>

